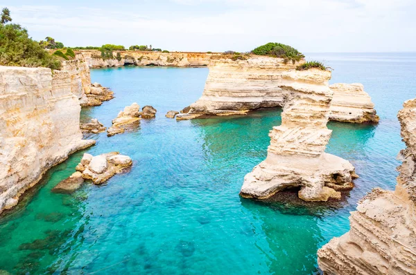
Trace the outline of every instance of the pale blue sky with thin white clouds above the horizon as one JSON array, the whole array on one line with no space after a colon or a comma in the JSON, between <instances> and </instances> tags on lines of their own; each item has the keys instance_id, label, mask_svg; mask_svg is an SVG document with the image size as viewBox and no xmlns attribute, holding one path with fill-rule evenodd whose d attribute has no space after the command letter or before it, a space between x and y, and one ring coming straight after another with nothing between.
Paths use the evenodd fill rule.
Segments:
<instances>
[{"instance_id":1,"label":"pale blue sky with thin white clouds above the horizon","mask_svg":"<svg viewBox=\"0 0 416 275\"><path fill-rule=\"evenodd\" d=\"M416 51L416 0L0 0L35 40L246 52Z\"/></svg>"}]
</instances>

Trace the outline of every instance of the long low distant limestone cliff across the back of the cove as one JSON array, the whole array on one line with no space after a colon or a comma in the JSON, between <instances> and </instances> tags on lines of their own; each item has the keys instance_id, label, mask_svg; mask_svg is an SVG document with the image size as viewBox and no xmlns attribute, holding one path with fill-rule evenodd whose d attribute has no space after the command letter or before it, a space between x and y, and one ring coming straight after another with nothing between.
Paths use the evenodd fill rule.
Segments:
<instances>
[{"instance_id":1,"label":"long low distant limestone cliff across the back of the cove","mask_svg":"<svg viewBox=\"0 0 416 275\"><path fill-rule=\"evenodd\" d=\"M116 59L116 53L120 53L121 59ZM82 56L89 68L119 67L125 65L136 66L174 66L195 67L207 66L210 53L162 53L150 51L119 51L114 52L114 59L101 58L98 50L79 50L77 57Z\"/></svg>"}]
</instances>

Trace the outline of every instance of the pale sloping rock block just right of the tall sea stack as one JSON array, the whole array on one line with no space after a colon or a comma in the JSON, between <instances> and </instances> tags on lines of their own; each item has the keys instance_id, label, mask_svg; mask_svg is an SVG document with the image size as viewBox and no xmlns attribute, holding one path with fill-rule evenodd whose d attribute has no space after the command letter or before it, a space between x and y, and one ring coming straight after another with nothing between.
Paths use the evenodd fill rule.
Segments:
<instances>
[{"instance_id":1,"label":"pale sloping rock block just right of the tall sea stack","mask_svg":"<svg viewBox=\"0 0 416 275\"><path fill-rule=\"evenodd\" d=\"M374 104L365 93L363 84L337 83L329 86L333 91L329 120L354 123L377 123Z\"/></svg>"}]
</instances>

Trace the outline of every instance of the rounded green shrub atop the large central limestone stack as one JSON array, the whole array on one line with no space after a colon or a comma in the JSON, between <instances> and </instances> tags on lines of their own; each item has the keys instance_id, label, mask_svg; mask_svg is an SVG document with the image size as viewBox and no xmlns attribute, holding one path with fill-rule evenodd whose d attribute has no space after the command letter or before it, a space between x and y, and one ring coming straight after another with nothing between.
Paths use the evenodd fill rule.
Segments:
<instances>
[{"instance_id":1,"label":"rounded green shrub atop the large central limestone stack","mask_svg":"<svg viewBox=\"0 0 416 275\"><path fill-rule=\"evenodd\" d=\"M284 62L292 61L295 64L296 61L305 56L295 48L281 43L268 43L263 46L259 46L252 50L254 55L268 55L271 57L280 57L284 59Z\"/></svg>"}]
</instances>

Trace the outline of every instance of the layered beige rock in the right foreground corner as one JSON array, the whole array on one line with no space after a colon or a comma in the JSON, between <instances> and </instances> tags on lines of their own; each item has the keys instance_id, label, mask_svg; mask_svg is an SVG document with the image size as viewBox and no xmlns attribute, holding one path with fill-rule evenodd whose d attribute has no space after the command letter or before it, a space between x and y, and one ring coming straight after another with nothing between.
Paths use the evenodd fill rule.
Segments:
<instances>
[{"instance_id":1,"label":"layered beige rock in the right foreground corner","mask_svg":"<svg viewBox=\"0 0 416 275\"><path fill-rule=\"evenodd\" d=\"M374 189L358 203L349 232L318 251L324 274L416 274L416 99L398 117L406 149L396 189Z\"/></svg>"}]
</instances>

